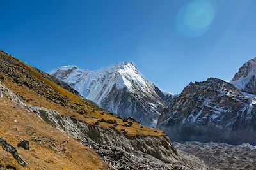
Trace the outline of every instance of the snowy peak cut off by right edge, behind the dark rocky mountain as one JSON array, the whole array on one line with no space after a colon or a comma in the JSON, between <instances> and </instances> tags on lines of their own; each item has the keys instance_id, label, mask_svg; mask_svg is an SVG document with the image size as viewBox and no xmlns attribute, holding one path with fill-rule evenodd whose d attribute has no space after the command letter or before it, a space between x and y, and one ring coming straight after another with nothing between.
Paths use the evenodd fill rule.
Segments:
<instances>
[{"instance_id":1,"label":"snowy peak cut off by right edge, behind the dark rocky mountain","mask_svg":"<svg viewBox=\"0 0 256 170\"><path fill-rule=\"evenodd\" d=\"M248 60L230 81L243 92L256 94L256 58Z\"/></svg>"}]
</instances>

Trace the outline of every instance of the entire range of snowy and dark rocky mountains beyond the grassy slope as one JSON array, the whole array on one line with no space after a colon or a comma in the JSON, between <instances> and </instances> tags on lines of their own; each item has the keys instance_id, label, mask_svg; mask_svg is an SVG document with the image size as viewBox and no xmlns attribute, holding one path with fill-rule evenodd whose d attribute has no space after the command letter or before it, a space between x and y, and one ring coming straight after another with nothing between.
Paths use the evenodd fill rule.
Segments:
<instances>
[{"instance_id":1,"label":"entire range of snowy and dark rocky mountains beyond the grassy slope","mask_svg":"<svg viewBox=\"0 0 256 170\"><path fill-rule=\"evenodd\" d=\"M230 83L209 78L173 96L143 78L131 62L98 71L76 66L51 71L100 107L143 125L157 124L174 141L232 144L256 144L255 74L256 59L251 59Z\"/></svg>"}]
</instances>

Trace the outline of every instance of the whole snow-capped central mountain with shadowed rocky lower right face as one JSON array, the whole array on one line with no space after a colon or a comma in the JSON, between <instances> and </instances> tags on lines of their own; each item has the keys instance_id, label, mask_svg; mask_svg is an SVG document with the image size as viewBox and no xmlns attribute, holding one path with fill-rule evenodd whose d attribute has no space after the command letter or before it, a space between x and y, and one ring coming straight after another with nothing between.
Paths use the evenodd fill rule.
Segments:
<instances>
[{"instance_id":1,"label":"whole snow-capped central mountain with shadowed rocky lower right face","mask_svg":"<svg viewBox=\"0 0 256 170\"><path fill-rule=\"evenodd\" d=\"M131 62L98 71L62 66L51 71L51 75L100 107L151 127L156 126L165 104L172 99L172 95L161 92L143 78Z\"/></svg>"}]
</instances>

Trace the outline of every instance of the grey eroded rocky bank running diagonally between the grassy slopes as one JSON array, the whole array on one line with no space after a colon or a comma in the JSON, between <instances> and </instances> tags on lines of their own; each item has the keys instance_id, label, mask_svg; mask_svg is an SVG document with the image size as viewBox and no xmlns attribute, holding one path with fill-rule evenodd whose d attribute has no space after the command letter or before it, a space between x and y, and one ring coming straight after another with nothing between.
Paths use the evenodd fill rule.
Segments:
<instances>
[{"instance_id":1,"label":"grey eroded rocky bank running diagonally between the grassy slopes","mask_svg":"<svg viewBox=\"0 0 256 170\"><path fill-rule=\"evenodd\" d=\"M204 165L186 162L170 143L161 136L125 136L115 129L89 125L75 118L60 115L57 111L31 106L22 102L10 89L0 83L4 96L30 113L38 115L47 124L60 129L72 138L93 148L114 169L191 169ZM198 167L199 166L199 167Z\"/></svg>"}]
</instances>

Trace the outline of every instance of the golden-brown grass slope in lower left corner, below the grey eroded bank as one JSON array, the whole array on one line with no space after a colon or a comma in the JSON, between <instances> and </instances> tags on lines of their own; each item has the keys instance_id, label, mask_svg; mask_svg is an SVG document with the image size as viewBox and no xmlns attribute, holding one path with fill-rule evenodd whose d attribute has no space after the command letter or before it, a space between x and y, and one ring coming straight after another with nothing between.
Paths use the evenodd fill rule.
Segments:
<instances>
[{"instance_id":1,"label":"golden-brown grass slope in lower left corner, below the grey eroded bank","mask_svg":"<svg viewBox=\"0 0 256 170\"><path fill-rule=\"evenodd\" d=\"M108 169L93 150L4 98L0 99L0 120L0 136L11 145L17 148L22 139L29 141L30 150L17 148L22 158L29 163L25 169ZM33 138L41 138L44 142L33 141ZM58 153L60 150L63 152ZM1 147L0 155L0 164L22 168Z\"/></svg>"}]
</instances>

